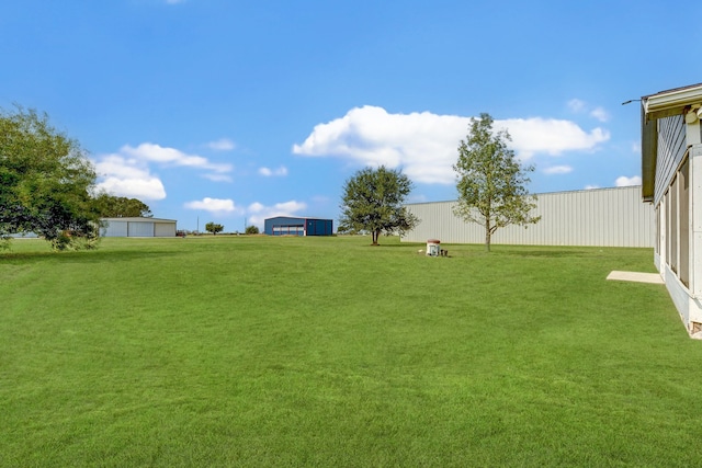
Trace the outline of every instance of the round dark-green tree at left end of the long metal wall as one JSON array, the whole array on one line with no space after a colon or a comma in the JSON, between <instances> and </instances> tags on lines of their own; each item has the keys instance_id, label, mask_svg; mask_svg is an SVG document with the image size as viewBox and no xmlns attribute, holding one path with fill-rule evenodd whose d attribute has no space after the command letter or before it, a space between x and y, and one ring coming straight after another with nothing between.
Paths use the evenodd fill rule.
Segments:
<instances>
[{"instance_id":1,"label":"round dark-green tree at left end of the long metal wall","mask_svg":"<svg viewBox=\"0 0 702 468\"><path fill-rule=\"evenodd\" d=\"M411 190L412 182L399 170L381 165L358 171L343 186L338 230L370 232L373 246L383 232L403 235L419 222L403 206Z\"/></svg>"}]
</instances>

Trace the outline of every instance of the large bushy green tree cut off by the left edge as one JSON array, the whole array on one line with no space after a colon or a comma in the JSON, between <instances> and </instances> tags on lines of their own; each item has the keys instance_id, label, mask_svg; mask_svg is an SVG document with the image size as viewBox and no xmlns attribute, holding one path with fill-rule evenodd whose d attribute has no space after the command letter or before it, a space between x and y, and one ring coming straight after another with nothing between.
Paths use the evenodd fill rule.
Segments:
<instances>
[{"instance_id":1,"label":"large bushy green tree cut off by the left edge","mask_svg":"<svg viewBox=\"0 0 702 468\"><path fill-rule=\"evenodd\" d=\"M94 247L95 171L78 141L46 114L0 110L0 238L35 232L54 249Z\"/></svg>"}]
</instances>

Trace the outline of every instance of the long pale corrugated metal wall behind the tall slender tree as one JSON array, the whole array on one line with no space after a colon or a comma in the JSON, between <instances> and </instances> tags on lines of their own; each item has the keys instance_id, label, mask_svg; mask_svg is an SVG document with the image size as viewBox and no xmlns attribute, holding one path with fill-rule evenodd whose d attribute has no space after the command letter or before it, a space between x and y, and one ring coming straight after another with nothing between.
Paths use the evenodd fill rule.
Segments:
<instances>
[{"instance_id":1,"label":"long pale corrugated metal wall behind the tall slender tree","mask_svg":"<svg viewBox=\"0 0 702 468\"><path fill-rule=\"evenodd\" d=\"M439 239L446 243L483 243L485 229L453 215L456 202L406 205L421 222L403 237L406 242ZM537 195L526 229L507 226L492 235L495 244L653 247L654 208L641 198L641 186L597 189Z\"/></svg>"}]
</instances>

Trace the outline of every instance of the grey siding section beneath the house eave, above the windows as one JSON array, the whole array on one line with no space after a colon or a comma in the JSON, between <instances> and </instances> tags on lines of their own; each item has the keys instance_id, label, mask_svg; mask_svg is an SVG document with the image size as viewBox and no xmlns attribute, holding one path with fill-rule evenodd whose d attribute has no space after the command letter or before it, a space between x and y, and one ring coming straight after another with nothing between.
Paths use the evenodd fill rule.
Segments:
<instances>
[{"instance_id":1,"label":"grey siding section beneath the house eave, above the windows","mask_svg":"<svg viewBox=\"0 0 702 468\"><path fill-rule=\"evenodd\" d=\"M654 205L658 205L682 162L687 150L686 124L682 115L658 121L658 156Z\"/></svg>"}]
</instances>

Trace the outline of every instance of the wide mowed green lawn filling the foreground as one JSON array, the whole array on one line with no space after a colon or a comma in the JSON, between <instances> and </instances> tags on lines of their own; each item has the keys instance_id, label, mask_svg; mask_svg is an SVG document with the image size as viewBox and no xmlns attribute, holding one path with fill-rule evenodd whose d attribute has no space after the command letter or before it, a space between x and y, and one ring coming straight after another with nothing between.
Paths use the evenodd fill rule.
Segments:
<instances>
[{"instance_id":1,"label":"wide mowed green lawn filling the foreground","mask_svg":"<svg viewBox=\"0 0 702 468\"><path fill-rule=\"evenodd\" d=\"M647 249L104 239L0 254L2 466L700 466Z\"/></svg>"}]
</instances>

